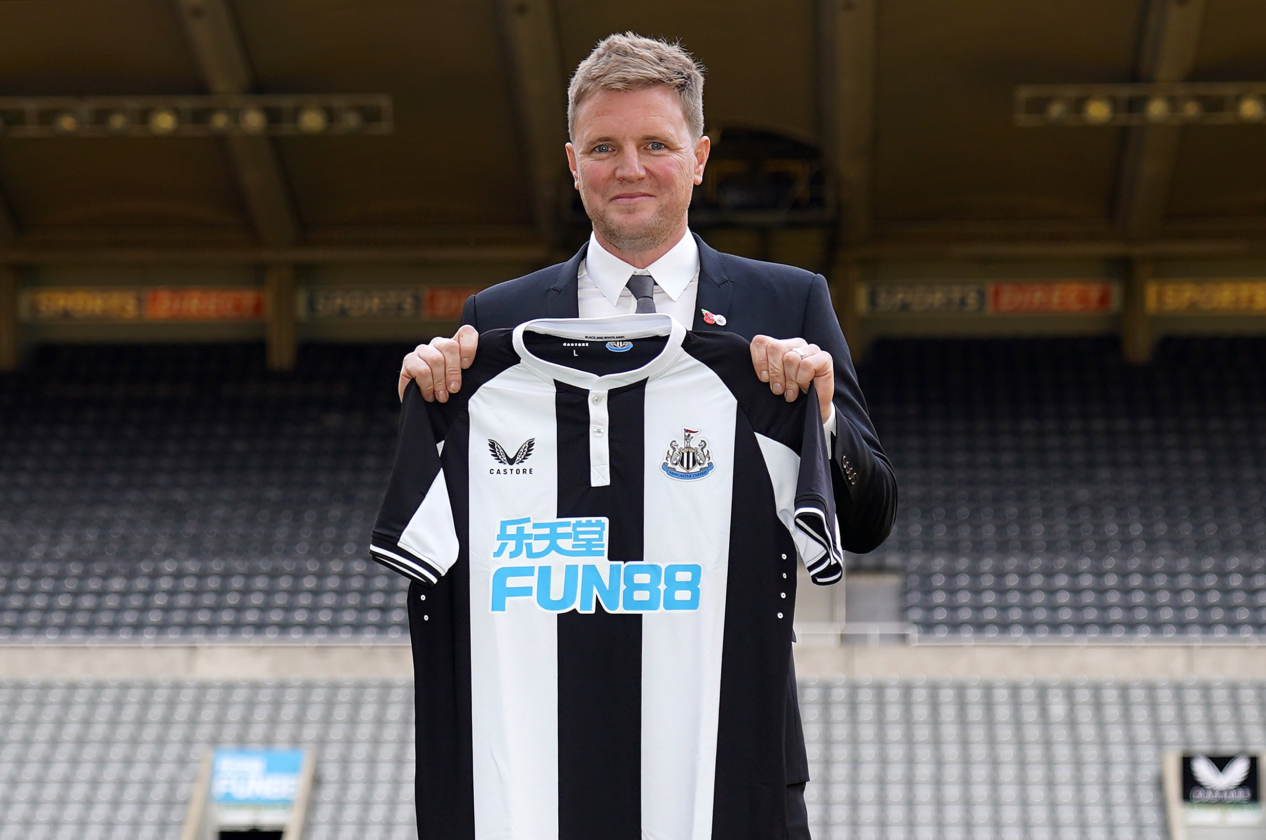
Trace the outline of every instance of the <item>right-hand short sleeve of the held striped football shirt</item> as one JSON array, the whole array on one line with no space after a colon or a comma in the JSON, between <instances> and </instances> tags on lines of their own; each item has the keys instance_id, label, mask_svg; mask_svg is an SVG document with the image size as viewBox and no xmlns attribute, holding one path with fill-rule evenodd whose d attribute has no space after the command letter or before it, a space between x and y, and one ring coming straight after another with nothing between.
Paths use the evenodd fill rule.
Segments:
<instances>
[{"instance_id":1,"label":"right-hand short sleeve of the held striped football shirt","mask_svg":"<svg viewBox=\"0 0 1266 840\"><path fill-rule=\"evenodd\" d=\"M798 405L804 412L799 451L760 432L756 437L774 484L779 519L791 532L813 583L829 585L843 579L844 563L818 393L810 388Z\"/></svg>"}]
</instances>

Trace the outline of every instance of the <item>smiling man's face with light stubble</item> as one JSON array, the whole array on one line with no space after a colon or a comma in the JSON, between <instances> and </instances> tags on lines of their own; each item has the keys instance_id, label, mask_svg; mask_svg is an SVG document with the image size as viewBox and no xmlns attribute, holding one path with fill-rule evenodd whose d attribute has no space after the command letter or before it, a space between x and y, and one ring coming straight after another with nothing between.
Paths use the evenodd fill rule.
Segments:
<instances>
[{"instance_id":1,"label":"smiling man's face with light stubble","mask_svg":"<svg viewBox=\"0 0 1266 840\"><path fill-rule=\"evenodd\" d=\"M685 231L708 150L706 137L690 137L681 100L667 85L600 90L576 111L567 163L594 229L633 253Z\"/></svg>"}]
</instances>

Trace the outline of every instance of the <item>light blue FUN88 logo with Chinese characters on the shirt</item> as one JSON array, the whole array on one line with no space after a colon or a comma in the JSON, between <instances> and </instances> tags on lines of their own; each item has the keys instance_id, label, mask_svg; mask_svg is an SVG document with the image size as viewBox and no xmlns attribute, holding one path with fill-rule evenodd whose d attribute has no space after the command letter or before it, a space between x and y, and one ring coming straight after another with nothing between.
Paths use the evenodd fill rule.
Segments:
<instances>
[{"instance_id":1,"label":"light blue FUN88 logo with Chinese characters on the shirt","mask_svg":"<svg viewBox=\"0 0 1266 840\"><path fill-rule=\"evenodd\" d=\"M699 609L699 564L606 561L608 525L605 517L503 519L495 559L551 557L553 563L495 569L492 612L505 612L514 602L548 612L594 612L599 603L606 612ZM580 557L595 561L568 563Z\"/></svg>"}]
</instances>

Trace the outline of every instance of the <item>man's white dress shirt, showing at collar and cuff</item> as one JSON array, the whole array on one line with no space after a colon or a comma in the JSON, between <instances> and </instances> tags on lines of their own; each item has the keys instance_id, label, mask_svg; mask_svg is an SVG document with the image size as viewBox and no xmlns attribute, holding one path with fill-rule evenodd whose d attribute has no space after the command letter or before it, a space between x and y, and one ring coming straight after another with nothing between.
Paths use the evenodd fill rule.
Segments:
<instances>
[{"instance_id":1,"label":"man's white dress shirt, showing at collar and cuff","mask_svg":"<svg viewBox=\"0 0 1266 840\"><path fill-rule=\"evenodd\" d=\"M581 318L605 318L637 312L637 302L628 289L634 274L655 277L655 310L672 315L686 329L695 323L695 303L699 299L699 243L686 229L668 252L648 265L637 269L608 251L598 236L589 234L589 251L576 271L576 309ZM719 313L725 314L725 313ZM823 424L827 441L834 451L836 405Z\"/></svg>"}]
</instances>

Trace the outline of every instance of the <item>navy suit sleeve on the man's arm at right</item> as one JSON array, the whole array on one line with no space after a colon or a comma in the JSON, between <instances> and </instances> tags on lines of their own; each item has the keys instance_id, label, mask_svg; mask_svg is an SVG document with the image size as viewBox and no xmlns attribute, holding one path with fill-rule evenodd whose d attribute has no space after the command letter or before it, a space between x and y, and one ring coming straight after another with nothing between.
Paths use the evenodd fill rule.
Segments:
<instances>
[{"instance_id":1,"label":"navy suit sleeve on the man's arm at right","mask_svg":"<svg viewBox=\"0 0 1266 840\"><path fill-rule=\"evenodd\" d=\"M846 551L866 554L887 538L896 519L896 478L875 433L848 342L839 328L827 281L815 276L804 313L805 341L830 353L836 367L836 435L830 474Z\"/></svg>"}]
</instances>

